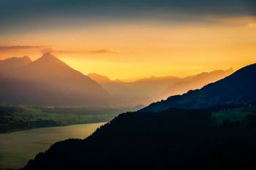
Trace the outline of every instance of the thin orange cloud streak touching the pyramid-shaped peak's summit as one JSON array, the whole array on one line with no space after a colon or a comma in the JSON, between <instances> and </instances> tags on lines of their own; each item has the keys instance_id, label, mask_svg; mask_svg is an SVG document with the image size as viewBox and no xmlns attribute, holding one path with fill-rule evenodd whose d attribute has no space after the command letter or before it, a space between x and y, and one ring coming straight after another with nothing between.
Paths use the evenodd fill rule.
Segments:
<instances>
[{"instance_id":1,"label":"thin orange cloud streak touching the pyramid-shaped peak's summit","mask_svg":"<svg viewBox=\"0 0 256 170\"><path fill-rule=\"evenodd\" d=\"M55 50L52 47L44 48L42 53L64 53L64 54L118 54L119 50L102 49L102 50Z\"/></svg>"}]
</instances>

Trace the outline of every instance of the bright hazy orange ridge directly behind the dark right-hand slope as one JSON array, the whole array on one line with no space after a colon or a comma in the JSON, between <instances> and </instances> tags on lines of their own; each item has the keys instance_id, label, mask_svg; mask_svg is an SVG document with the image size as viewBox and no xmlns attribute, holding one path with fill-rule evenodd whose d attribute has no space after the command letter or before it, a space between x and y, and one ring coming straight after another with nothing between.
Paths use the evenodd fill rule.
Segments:
<instances>
[{"instance_id":1,"label":"bright hazy orange ridge directly behind the dark right-hand slope","mask_svg":"<svg viewBox=\"0 0 256 170\"><path fill-rule=\"evenodd\" d=\"M224 77L229 76L233 73L233 69L216 70L214 72L203 72L193 76L185 77L179 82L170 85L159 98L167 98L168 96L173 96L177 94L187 93L189 90L195 90L198 88L203 88L204 85L208 85L211 82L216 82Z\"/></svg>"}]
</instances>

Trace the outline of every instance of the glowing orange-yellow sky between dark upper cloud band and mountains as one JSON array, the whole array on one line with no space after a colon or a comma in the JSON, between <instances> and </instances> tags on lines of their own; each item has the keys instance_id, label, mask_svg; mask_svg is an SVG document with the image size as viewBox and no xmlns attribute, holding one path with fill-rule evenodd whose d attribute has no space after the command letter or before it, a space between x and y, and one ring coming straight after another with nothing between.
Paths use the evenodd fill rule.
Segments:
<instances>
[{"instance_id":1,"label":"glowing orange-yellow sky between dark upper cloud band and mountains","mask_svg":"<svg viewBox=\"0 0 256 170\"><path fill-rule=\"evenodd\" d=\"M101 23L1 35L3 47L31 47L1 49L0 58L29 55L35 60L50 51L83 74L95 72L121 80L184 77L256 63L255 18L206 19L212 22Z\"/></svg>"}]
</instances>

